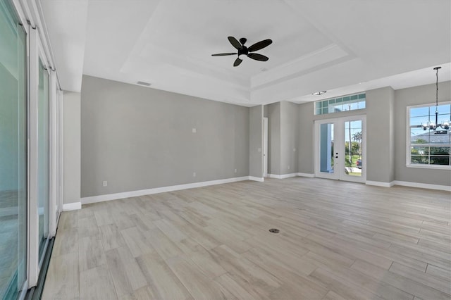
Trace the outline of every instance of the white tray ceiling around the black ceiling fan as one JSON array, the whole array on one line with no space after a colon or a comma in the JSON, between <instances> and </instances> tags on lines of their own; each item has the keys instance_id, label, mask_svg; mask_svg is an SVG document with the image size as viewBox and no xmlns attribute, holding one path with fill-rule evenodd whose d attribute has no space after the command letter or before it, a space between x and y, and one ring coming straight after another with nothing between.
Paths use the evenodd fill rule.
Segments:
<instances>
[{"instance_id":1,"label":"white tray ceiling around the black ceiling fan","mask_svg":"<svg viewBox=\"0 0 451 300\"><path fill-rule=\"evenodd\" d=\"M245 106L451 80L450 0L42 0L63 89L82 74ZM269 61L233 67L231 35ZM83 61L80 61L80 58ZM264 69L264 70L262 70ZM327 90L321 96L316 91Z\"/></svg>"}]
</instances>

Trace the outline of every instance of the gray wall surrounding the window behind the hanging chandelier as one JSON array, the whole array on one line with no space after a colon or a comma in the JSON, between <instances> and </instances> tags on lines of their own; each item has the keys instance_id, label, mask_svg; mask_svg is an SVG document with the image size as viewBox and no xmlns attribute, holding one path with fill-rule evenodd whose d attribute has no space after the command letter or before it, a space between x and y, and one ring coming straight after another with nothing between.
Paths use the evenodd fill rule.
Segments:
<instances>
[{"instance_id":1,"label":"gray wall surrounding the window behind the hanging chandelier","mask_svg":"<svg viewBox=\"0 0 451 300\"><path fill-rule=\"evenodd\" d=\"M451 82L438 84L438 101L451 100ZM451 185L450 170L406 167L407 106L435 102L435 84L395 91L395 179L431 185Z\"/></svg>"}]
</instances>

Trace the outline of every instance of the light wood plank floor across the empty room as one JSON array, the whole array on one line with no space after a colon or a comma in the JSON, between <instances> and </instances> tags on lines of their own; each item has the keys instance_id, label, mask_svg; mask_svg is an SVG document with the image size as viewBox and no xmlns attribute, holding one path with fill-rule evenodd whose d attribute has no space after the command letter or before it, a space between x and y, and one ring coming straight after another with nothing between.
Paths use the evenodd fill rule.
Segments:
<instances>
[{"instance_id":1,"label":"light wood plank floor across the empty room","mask_svg":"<svg viewBox=\"0 0 451 300\"><path fill-rule=\"evenodd\" d=\"M43 299L450 299L450 201L294 177L85 205Z\"/></svg>"}]
</instances>

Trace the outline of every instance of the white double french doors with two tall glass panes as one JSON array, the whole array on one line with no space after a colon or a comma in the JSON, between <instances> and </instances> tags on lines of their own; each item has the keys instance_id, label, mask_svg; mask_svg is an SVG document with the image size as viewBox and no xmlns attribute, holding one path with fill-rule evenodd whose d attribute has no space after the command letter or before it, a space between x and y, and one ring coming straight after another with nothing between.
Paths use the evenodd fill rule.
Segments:
<instances>
[{"instance_id":1,"label":"white double french doors with two tall glass panes","mask_svg":"<svg viewBox=\"0 0 451 300\"><path fill-rule=\"evenodd\" d=\"M315 176L366 181L366 116L315 121Z\"/></svg>"}]
</instances>

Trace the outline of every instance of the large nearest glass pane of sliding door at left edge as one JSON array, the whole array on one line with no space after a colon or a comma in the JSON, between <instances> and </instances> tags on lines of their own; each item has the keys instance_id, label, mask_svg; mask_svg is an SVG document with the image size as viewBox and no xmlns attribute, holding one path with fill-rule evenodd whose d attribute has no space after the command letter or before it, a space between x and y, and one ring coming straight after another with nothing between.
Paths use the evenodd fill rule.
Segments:
<instances>
[{"instance_id":1,"label":"large nearest glass pane of sliding door at left edge","mask_svg":"<svg viewBox=\"0 0 451 300\"><path fill-rule=\"evenodd\" d=\"M0 299L16 299L27 265L26 36L0 5Z\"/></svg>"}]
</instances>

